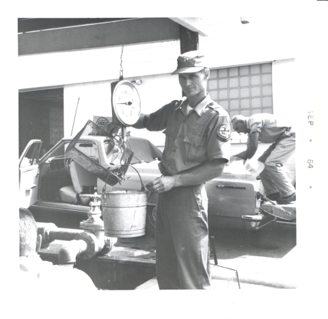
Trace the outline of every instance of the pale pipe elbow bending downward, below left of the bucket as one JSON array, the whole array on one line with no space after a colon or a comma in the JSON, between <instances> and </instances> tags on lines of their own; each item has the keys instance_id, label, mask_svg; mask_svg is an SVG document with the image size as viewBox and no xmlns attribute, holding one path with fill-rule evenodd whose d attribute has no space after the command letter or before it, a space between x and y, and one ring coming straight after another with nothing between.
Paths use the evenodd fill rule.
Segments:
<instances>
[{"instance_id":1,"label":"pale pipe elbow bending downward, below left of the bucket","mask_svg":"<svg viewBox=\"0 0 328 319\"><path fill-rule=\"evenodd\" d=\"M74 264L77 261L77 256L86 253L88 249L89 245L85 240L70 240L61 247L58 264Z\"/></svg>"}]
</instances>

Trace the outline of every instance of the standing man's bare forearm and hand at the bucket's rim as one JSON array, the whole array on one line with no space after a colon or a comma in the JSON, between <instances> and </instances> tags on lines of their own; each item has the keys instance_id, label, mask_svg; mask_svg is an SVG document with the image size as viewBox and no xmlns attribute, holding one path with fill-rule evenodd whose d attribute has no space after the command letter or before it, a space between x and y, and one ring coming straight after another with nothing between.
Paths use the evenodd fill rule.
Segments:
<instances>
[{"instance_id":1,"label":"standing man's bare forearm and hand at the bucket's rim","mask_svg":"<svg viewBox=\"0 0 328 319\"><path fill-rule=\"evenodd\" d=\"M156 192L167 192L174 187L205 183L206 181L210 181L210 179L221 176L225 165L226 159L213 159L213 161L207 164L189 170L188 173L158 177L154 181L148 183L146 188Z\"/></svg>"}]
</instances>

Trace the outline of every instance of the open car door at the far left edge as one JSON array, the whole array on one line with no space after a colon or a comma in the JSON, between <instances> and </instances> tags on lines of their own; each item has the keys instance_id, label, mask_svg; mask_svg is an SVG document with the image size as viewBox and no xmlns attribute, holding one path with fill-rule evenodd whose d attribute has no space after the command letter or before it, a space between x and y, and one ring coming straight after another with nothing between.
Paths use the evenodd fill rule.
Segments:
<instances>
[{"instance_id":1,"label":"open car door at the far left edge","mask_svg":"<svg viewBox=\"0 0 328 319\"><path fill-rule=\"evenodd\" d=\"M31 140L19 158L19 207L28 208L38 199L41 140Z\"/></svg>"}]
</instances>

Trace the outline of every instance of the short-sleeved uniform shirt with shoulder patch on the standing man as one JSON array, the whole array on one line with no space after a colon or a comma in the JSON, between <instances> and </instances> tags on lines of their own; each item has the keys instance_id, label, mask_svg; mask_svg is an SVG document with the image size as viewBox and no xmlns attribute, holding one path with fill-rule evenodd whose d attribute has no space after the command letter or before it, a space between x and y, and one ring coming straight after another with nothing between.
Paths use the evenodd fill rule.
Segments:
<instances>
[{"instance_id":1,"label":"short-sleeved uniform shirt with shoulder patch on the standing man","mask_svg":"<svg viewBox=\"0 0 328 319\"><path fill-rule=\"evenodd\" d=\"M209 95L189 112L187 99L172 101L145 116L149 131L165 129L165 148L159 169L175 175L215 158L230 159L231 122L228 113Z\"/></svg>"}]
</instances>

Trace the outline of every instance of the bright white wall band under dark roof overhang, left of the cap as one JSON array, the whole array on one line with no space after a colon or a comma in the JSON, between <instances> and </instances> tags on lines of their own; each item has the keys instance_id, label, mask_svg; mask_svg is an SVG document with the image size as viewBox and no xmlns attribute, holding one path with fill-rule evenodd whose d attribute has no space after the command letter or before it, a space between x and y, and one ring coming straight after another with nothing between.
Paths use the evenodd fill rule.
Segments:
<instances>
[{"instance_id":1,"label":"bright white wall band under dark roof overhang, left of the cap","mask_svg":"<svg viewBox=\"0 0 328 319\"><path fill-rule=\"evenodd\" d=\"M19 89L111 81L120 77L121 47L23 55L18 57ZM174 70L178 41L124 47L124 78Z\"/></svg>"}]
</instances>

